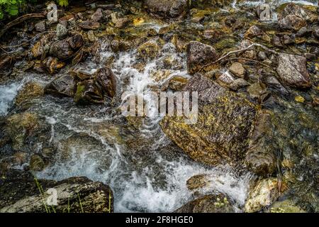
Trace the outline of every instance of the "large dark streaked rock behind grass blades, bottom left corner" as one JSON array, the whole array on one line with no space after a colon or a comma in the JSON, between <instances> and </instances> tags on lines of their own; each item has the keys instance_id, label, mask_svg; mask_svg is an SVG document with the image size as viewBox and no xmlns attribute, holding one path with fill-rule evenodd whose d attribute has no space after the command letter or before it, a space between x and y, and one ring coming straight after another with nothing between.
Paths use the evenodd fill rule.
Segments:
<instances>
[{"instance_id":1,"label":"large dark streaked rock behind grass blades, bottom left corner","mask_svg":"<svg viewBox=\"0 0 319 227\"><path fill-rule=\"evenodd\" d=\"M14 178L1 179L1 213L113 212L113 192L101 182L92 182L86 177L72 177L56 182L35 180L28 173L15 174ZM42 188L41 193L39 188ZM50 196L47 189L57 190L57 206L44 205Z\"/></svg>"}]
</instances>

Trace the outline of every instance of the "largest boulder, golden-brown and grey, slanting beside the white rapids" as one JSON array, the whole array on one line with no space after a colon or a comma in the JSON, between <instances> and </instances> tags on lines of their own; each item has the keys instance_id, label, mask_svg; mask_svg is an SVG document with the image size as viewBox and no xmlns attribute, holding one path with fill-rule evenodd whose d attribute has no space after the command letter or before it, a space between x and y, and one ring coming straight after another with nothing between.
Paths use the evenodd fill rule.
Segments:
<instances>
[{"instance_id":1,"label":"largest boulder, golden-brown and grey, slanting beside the white rapids","mask_svg":"<svg viewBox=\"0 0 319 227\"><path fill-rule=\"evenodd\" d=\"M196 161L216 165L242 160L256 107L201 74L184 91L198 92L198 121L187 125L181 117L165 117L160 123L164 133Z\"/></svg>"}]
</instances>

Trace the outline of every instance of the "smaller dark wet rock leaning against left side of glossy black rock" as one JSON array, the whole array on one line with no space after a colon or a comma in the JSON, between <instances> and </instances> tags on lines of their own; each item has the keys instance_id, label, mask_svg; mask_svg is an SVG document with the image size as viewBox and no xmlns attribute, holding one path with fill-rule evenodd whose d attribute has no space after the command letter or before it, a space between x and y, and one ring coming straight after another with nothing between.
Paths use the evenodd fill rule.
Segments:
<instances>
[{"instance_id":1,"label":"smaller dark wet rock leaning against left side of glossy black rock","mask_svg":"<svg viewBox=\"0 0 319 227\"><path fill-rule=\"evenodd\" d=\"M65 74L55 78L45 86L45 94L57 96L74 96L76 81L72 75Z\"/></svg>"}]
</instances>

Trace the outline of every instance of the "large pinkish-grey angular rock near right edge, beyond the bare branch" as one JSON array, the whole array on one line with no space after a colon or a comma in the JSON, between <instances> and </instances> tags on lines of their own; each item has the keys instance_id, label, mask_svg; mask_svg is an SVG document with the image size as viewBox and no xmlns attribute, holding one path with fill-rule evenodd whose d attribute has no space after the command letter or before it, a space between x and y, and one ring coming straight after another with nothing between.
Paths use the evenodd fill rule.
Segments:
<instances>
[{"instance_id":1,"label":"large pinkish-grey angular rock near right edge, beyond the bare branch","mask_svg":"<svg viewBox=\"0 0 319 227\"><path fill-rule=\"evenodd\" d=\"M276 71L281 80L291 87L311 87L310 77L306 68L306 57L281 53L278 57Z\"/></svg>"}]
</instances>

